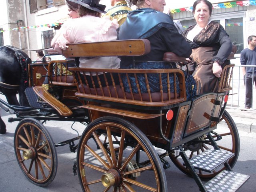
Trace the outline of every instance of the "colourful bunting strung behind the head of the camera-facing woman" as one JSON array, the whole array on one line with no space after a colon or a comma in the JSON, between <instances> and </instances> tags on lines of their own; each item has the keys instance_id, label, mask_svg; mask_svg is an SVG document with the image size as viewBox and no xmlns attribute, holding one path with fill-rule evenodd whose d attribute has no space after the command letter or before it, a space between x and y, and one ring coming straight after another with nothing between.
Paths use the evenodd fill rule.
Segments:
<instances>
[{"instance_id":1,"label":"colourful bunting strung behind the head of the camera-facing woman","mask_svg":"<svg viewBox=\"0 0 256 192\"><path fill-rule=\"evenodd\" d=\"M213 9L220 9L220 8L232 8L236 6L249 6L249 5L256 5L255 0L246 0L246 1L236 1L236 2L226 2L226 3L218 3L218 4L212 4ZM170 12L172 14L179 13L182 11L189 11L192 12L193 7L186 7L186 8L180 8L180 9L172 9Z\"/></svg>"}]
</instances>

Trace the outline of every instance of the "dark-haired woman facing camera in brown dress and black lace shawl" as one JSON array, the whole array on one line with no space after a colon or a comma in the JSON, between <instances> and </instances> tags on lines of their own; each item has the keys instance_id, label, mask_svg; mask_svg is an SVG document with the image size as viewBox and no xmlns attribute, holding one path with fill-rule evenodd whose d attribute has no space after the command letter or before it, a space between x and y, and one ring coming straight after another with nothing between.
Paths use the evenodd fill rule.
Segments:
<instances>
[{"instance_id":1,"label":"dark-haired woman facing camera in brown dress and black lace shawl","mask_svg":"<svg viewBox=\"0 0 256 192\"><path fill-rule=\"evenodd\" d=\"M197 94L216 92L222 68L230 64L226 60L231 53L232 43L217 22L210 21L212 4L208 0L196 0L192 13L196 23L183 32L192 48L189 70L196 80Z\"/></svg>"}]
</instances>

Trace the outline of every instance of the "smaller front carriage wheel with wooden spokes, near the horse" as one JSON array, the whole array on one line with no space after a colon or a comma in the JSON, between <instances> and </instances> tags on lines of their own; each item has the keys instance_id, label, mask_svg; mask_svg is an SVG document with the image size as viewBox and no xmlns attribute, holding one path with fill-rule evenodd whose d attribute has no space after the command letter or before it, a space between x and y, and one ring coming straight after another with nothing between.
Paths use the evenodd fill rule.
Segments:
<instances>
[{"instance_id":1,"label":"smaller front carriage wheel with wooden spokes, near the horse","mask_svg":"<svg viewBox=\"0 0 256 192\"><path fill-rule=\"evenodd\" d=\"M14 150L18 164L30 182L48 186L57 172L57 154L54 142L38 120L25 118L14 134Z\"/></svg>"}]
</instances>

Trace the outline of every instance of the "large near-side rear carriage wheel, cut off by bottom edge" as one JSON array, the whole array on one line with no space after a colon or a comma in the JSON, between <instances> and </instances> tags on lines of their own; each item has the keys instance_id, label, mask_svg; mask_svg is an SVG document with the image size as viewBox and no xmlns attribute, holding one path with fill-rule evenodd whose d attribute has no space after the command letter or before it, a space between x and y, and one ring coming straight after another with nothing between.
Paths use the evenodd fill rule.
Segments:
<instances>
[{"instance_id":1,"label":"large near-side rear carriage wheel, cut off by bottom edge","mask_svg":"<svg viewBox=\"0 0 256 192\"><path fill-rule=\"evenodd\" d=\"M86 192L167 191L154 147L136 126L121 118L102 117L91 122L81 136L77 162Z\"/></svg>"}]
</instances>

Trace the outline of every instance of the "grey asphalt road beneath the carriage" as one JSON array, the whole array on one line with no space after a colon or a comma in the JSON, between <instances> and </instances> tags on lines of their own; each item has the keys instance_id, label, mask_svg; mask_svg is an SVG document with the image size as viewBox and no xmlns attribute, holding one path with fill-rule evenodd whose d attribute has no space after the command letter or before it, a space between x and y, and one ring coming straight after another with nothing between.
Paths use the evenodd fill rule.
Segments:
<instances>
[{"instance_id":1,"label":"grey asphalt road beneath the carriage","mask_svg":"<svg viewBox=\"0 0 256 192\"><path fill-rule=\"evenodd\" d=\"M18 166L14 154L14 132L18 122L8 123L9 117L14 115L6 114L1 110L1 116L6 122L7 133L0 135L0 192L82 192L78 176L73 174L73 162L76 161L76 153L70 152L68 146L56 148L58 154L58 170L53 182L41 188L28 181ZM50 132L54 142L60 142L77 136L77 133L71 129L70 122L47 122L44 124ZM79 134L82 134L85 126L78 122L74 124ZM239 192L256 191L256 134L239 130L240 134L240 155L234 172L250 175L251 178ZM159 150L159 149L157 149ZM165 170L168 181L168 191L170 192L198 192L198 186L193 178L183 174L171 162L171 167Z\"/></svg>"}]
</instances>

